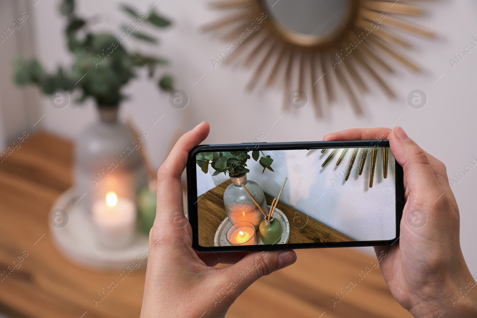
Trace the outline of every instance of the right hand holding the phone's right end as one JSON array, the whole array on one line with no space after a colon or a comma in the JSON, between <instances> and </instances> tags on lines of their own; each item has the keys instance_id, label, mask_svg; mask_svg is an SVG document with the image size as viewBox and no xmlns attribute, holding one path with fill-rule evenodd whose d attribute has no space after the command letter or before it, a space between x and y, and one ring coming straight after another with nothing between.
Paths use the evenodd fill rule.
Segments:
<instances>
[{"instance_id":1,"label":"right hand holding the phone's right end","mask_svg":"<svg viewBox=\"0 0 477 318\"><path fill-rule=\"evenodd\" d=\"M415 317L477 317L477 286L460 248L459 210L446 166L401 127L348 129L323 138L366 139L389 139L404 170L399 243L374 248L385 253L381 271L394 298Z\"/></svg>"}]
</instances>

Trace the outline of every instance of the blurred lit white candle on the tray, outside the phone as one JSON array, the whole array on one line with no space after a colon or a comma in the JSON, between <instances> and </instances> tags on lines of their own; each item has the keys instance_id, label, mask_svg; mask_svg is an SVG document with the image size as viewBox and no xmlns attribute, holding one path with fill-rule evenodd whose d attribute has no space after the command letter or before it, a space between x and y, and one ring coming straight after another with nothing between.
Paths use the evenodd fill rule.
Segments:
<instances>
[{"instance_id":1,"label":"blurred lit white candle on the tray, outside the phone","mask_svg":"<svg viewBox=\"0 0 477 318\"><path fill-rule=\"evenodd\" d=\"M105 200L93 203L92 215L99 241L104 246L123 247L131 243L136 227L136 207L132 200L108 192Z\"/></svg>"}]
</instances>

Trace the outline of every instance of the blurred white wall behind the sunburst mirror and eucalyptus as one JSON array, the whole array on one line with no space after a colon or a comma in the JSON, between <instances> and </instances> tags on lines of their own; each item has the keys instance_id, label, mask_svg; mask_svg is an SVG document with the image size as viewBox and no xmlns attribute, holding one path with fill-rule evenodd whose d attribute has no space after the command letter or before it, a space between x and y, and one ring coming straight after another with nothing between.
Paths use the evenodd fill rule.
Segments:
<instances>
[{"instance_id":1,"label":"blurred white wall behind the sunburst mirror and eucalyptus","mask_svg":"<svg viewBox=\"0 0 477 318\"><path fill-rule=\"evenodd\" d=\"M108 29L117 30L114 28L115 8L124 1L82 2L106 22ZM135 1L135 6L146 9L154 2L139 0ZM206 1L202 2L207 5ZM187 109L194 113L191 127L201 120L211 124L212 133L206 140L209 144L250 142L261 131L267 133L264 140L267 142L320 140L325 133L349 127L390 127L399 118L395 125L403 126L426 151L444 161L450 175L458 172L472 160L472 155L477 154L474 142L477 134L474 93L477 86L477 51L473 50L454 69L449 63L449 59L467 46L472 36L477 35L475 1L441 0L442 4L438 1L419 1L419 5L425 8L425 15L406 20L435 31L437 38L430 41L409 36L412 48L406 55L421 65L424 72L412 74L395 65L395 77L391 74L387 76L397 92L395 100L388 100L372 86L376 93L364 98L365 115L356 116L348 101L340 95L337 103L326 107L325 118L321 121L314 117L310 105L301 110L283 110L283 94L279 88L245 92L244 87L252 76L250 70L224 65L213 69L210 59L227 43L212 34L198 31L204 23L215 21L214 15L221 16L221 12L212 10L212 13L202 2L161 0L156 5L175 21L173 29L161 34L161 46L157 52L171 59L171 71L176 77L177 87L190 96L189 106L180 111L173 109L167 102L167 95L157 92L155 83L147 80L133 82L126 88L131 100L124 103L123 112L131 114L141 130L150 133L151 138L145 142L156 166L163 160L166 144ZM80 12L91 16L91 11L80 1L78 6ZM62 34L64 21L56 13L56 8L57 1L53 0L43 0L34 8L39 57L50 68L58 62L69 61ZM98 28L104 26L100 23ZM204 73L207 74L197 82ZM406 102L407 94L414 89L421 89L427 94L428 103L423 109L412 109ZM68 106L62 111L53 109L48 102L43 106L46 116L41 122L44 127L66 136L72 137L84 128L75 114L85 123L91 122L94 117L91 105L82 108ZM160 124L152 127L163 114L166 115ZM228 120L231 114L237 114L241 120L235 117ZM275 123L282 114L284 116ZM473 273L477 272L477 171L474 170L453 188L460 207L461 244Z\"/></svg>"}]
</instances>

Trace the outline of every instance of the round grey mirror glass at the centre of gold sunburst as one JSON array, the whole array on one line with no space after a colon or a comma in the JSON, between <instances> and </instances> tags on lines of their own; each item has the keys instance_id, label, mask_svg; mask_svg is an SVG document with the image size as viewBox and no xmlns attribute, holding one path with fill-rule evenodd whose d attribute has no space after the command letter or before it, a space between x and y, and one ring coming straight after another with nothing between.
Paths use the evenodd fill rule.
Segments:
<instances>
[{"instance_id":1,"label":"round grey mirror glass at the centre of gold sunburst","mask_svg":"<svg viewBox=\"0 0 477 318\"><path fill-rule=\"evenodd\" d=\"M352 0L262 0L261 4L283 37L313 46L345 30Z\"/></svg>"}]
</instances>

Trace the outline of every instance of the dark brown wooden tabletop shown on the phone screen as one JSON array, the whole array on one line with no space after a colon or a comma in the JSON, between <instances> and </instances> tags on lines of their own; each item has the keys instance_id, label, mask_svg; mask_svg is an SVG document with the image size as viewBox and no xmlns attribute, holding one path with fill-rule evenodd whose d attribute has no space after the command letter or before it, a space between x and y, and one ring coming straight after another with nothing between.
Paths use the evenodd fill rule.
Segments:
<instances>
[{"instance_id":1,"label":"dark brown wooden tabletop shown on the phone screen","mask_svg":"<svg viewBox=\"0 0 477 318\"><path fill-rule=\"evenodd\" d=\"M197 221L201 246L214 246L217 228L227 217L223 197L225 189L231 183L232 181L228 179L197 198ZM271 205L273 198L267 194L265 194L265 198L267 204ZM277 208L287 216L290 222L290 239L288 240L290 244L353 241L350 237L281 201L278 202Z\"/></svg>"}]
</instances>

